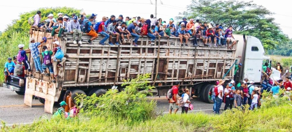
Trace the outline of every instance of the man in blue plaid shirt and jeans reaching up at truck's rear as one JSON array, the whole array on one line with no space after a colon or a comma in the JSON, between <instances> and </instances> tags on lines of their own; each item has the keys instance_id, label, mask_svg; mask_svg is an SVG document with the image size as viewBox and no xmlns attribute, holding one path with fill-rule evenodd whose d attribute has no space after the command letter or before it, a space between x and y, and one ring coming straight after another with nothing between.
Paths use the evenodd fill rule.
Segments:
<instances>
[{"instance_id":1,"label":"man in blue plaid shirt and jeans reaching up at truck's rear","mask_svg":"<svg viewBox=\"0 0 292 132\"><path fill-rule=\"evenodd\" d=\"M40 73L42 75L45 74L45 72L42 70L41 68L41 62L40 62L40 57L39 57L39 51L38 48L42 46L42 44L47 40L46 37L42 38L42 41L40 42L36 42L35 38L30 38L29 39L29 49L31 50L31 55L34 59L34 63L35 63L35 68L36 68L36 73L38 73L40 71Z\"/></svg>"}]
</instances>

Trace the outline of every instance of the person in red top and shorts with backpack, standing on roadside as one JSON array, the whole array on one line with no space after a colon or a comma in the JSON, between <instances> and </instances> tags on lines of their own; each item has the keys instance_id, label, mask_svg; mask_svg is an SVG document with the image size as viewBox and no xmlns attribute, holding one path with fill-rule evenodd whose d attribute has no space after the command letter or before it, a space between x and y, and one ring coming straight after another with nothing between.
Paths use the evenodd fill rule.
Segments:
<instances>
[{"instance_id":1,"label":"person in red top and shorts with backpack, standing on roadside","mask_svg":"<svg viewBox=\"0 0 292 132\"><path fill-rule=\"evenodd\" d=\"M180 82L175 82L175 86L172 86L172 100L175 102L169 101L169 114L171 114L172 110L174 110L174 114L176 114L179 110L177 95L179 93Z\"/></svg>"}]
</instances>

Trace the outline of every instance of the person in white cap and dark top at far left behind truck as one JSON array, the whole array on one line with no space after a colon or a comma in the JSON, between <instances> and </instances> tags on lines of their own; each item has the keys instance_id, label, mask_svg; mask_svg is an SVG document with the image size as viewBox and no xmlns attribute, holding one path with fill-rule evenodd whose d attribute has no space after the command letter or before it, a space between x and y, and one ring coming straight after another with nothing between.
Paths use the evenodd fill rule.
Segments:
<instances>
[{"instance_id":1,"label":"person in white cap and dark top at far left behind truck","mask_svg":"<svg viewBox=\"0 0 292 132\"><path fill-rule=\"evenodd\" d=\"M31 53L31 50L30 49L23 50L23 47L24 47L24 44L18 44L19 51L18 51L18 55L17 55L17 61L24 63L25 77L30 76L31 78L34 78L35 76L32 75L31 66L30 66L30 63L29 63L28 58L26 56L27 53Z\"/></svg>"}]
</instances>

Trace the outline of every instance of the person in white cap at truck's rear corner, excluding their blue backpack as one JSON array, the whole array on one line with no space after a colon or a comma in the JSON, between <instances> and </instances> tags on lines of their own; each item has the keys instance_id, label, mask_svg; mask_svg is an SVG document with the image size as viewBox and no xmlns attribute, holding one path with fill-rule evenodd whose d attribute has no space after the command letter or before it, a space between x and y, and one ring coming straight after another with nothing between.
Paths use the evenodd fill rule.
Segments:
<instances>
[{"instance_id":1,"label":"person in white cap at truck's rear corner, excluding their blue backpack","mask_svg":"<svg viewBox=\"0 0 292 132\"><path fill-rule=\"evenodd\" d=\"M64 64L64 62L66 61L66 57L63 57L62 59L57 59L57 61L54 61L54 56L58 50L58 48L60 48L60 43L59 41L55 41L53 42L54 44L54 49L53 49L53 55L52 55L52 61L53 62L53 68L54 68L54 77L56 78L58 75L57 75L57 67L63 67L62 64ZM57 64L58 62L60 62L59 64Z\"/></svg>"}]
</instances>

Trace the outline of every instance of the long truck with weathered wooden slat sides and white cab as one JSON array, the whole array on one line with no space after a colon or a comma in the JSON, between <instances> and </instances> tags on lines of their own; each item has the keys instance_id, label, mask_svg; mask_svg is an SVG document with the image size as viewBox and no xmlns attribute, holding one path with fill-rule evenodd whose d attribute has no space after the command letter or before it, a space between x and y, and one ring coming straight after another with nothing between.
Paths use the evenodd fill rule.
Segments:
<instances>
[{"instance_id":1,"label":"long truck with weathered wooden slat sides and white cab","mask_svg":"<svg viewBox=\"0 0 292 132\"><path fill-rule=\"evenodd\" d=\"M51 35L33 28L30 33L36 41ZM208 92L215 81L233 79L236 64L243 64L240 79L248 77L259 84L263 61L271 63L264 56L263 45L258 38L234 37L238 42L230 50L226 47L181 47L180 39L172 37L157 38L155 45L148 45L150 38L140 37L137 47L132 43L100 45L102 36L93 40L93 44L87 44L85 41L91 37L86 34L82 36L83 44L78 45L73 44L71 33L64 33L60 38L60 47L67 59L63 68L58 68L55 83L51 77L35 73L33 58L29 56L35 78L26 78L24 104L31 107L32 96L35 95L45 104L44 111L53 113L54 103L63 100L66 90L71 90L73 97L76 94L102 95L112 86L117 86L121 91L124 79L144 74L151 75L148 80L156 88L152 91L153 95L165 96L175 82L180 82L180 93L189 88L191 96L199 96L205 102L213 103ZM134 40L132 37L130 39ZM52 50L52 39L43 45ZM41 47L39 51L42 51Z\"/></svg>"}]
</instances>

